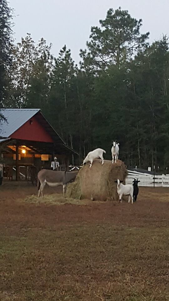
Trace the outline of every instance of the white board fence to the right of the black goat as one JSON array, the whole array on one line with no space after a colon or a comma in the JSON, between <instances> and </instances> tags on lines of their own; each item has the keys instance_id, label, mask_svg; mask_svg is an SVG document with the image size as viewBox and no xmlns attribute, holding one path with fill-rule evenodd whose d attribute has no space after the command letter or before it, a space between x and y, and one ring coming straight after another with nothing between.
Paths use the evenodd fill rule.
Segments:
<instances>
[{"instance_id":1,"label":"white board fence to the right of the black goat","mask_svg":"<svg viewBox=\"0 0 169 301\"><path fill-rule=\"evenodd\" d=\"M133 178L138 178L140 183L138 186L146 187L169 187L169 175L151 175L148 173L141 173L128 170L126 184L132 184Z\"/></svg>"}]
</instances>

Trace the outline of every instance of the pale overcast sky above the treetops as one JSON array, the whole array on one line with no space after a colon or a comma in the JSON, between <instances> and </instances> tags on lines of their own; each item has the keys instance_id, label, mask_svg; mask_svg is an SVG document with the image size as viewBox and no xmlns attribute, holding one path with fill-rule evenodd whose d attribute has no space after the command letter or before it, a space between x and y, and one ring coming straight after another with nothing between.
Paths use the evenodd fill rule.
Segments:
<instances>
[{"instance_id":1,"label":"pale overcast sky above the treetops","mask_svg":"<svg viewBox=\"0 0 169 301\"><path fill-rule=\"evenodd\" d=\"M16 42L27 32L35 42L43 37L53 44L55 56L66 44L76 63L91 26L98 26L109 8L121 6L133 18L142 18L141 32L150 31L151 42L169 34L169 0L10 0L9 6L15 9Z\"/></svg>"}]
</instances>

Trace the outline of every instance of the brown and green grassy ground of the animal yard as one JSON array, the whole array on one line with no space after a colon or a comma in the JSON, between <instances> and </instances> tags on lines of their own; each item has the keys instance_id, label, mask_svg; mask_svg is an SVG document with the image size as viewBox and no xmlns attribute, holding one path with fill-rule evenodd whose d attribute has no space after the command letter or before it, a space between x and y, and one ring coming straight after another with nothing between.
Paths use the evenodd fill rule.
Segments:
<instances>
[{"instance_id":1,"label":"brown and green grassy ground of the animal yard","mask_svg":"<svg viewBox=\"0 0 169 301\"><path fill-rule=\"evenodd\" d=\"M169 188L140 187L133 205L34 194L27 182L0 187L0 300L169 300Z\"/></svg>"}]
</instances>

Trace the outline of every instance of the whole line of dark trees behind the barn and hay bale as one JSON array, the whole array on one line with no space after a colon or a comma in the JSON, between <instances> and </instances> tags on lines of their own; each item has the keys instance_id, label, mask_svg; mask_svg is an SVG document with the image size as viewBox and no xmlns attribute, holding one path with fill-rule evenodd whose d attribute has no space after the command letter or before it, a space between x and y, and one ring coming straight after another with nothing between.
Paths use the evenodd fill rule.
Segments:
<instances>
[{"instance_id":1,"label":"whole line of dark trees behind the barn and hay bale","mask_svg":"<svg viewBox=\"0 0 169 301\"><path fill-rule=\"evenodd\" d=\"M107 11L91 27L86 49L75 64L66 45L58 57L44 38L31 34L13 42L13 11L0 0L1 108L40 108L79 164L101 147L111 158L120 143L128 167L169 165L169 40L149 43L142 20L127 10ZM3 118L3 116L1 116Z\"/></svg>"}]
</instances>

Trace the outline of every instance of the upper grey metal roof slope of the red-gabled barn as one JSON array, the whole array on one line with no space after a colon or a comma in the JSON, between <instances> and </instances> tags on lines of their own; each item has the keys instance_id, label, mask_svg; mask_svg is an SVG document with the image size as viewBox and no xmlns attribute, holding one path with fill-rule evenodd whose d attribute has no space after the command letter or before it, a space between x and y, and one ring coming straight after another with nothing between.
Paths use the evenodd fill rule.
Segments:
<instances>
[{"instance_id":1,"label":"upper grey metal roof slope of the red-gabled barn","mask_svg":"<svg viewBox=\"0 0 169 301\"><path fill-rule=\"evenodd\" d=\"M1 109L0 113L6 120L0 124L0 136L8 138L39 111L40 109Z\"/></svg>"}]
</instances>

